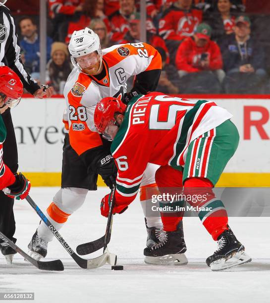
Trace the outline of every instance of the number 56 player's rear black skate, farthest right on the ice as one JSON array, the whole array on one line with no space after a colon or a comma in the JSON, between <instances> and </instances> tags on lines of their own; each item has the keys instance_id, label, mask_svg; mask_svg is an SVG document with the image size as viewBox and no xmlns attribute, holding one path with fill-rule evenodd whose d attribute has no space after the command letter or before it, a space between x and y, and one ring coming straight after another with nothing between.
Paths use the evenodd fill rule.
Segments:
<instances>
[{"instance_id":1,"label":"number 56 player's rear black skate, farthest right on the ice","mask_svg":"<svg viewBox=\"0 0 270 303\"><path fill-rule=\"evenodd\" d=\"M223 270L251 261L245 247L236 239L231 229L223 231L217 238L216 252L206 259L212 270Z\"/></svg>"}]
</instances>

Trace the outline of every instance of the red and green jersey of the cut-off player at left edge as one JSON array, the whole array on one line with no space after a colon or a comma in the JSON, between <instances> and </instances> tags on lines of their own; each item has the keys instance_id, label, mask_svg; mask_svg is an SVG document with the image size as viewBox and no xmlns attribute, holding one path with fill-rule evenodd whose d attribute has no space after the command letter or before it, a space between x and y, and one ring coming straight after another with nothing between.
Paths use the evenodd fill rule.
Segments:
<instances>
[{"instance_id":1,"label":"red and green jersey of the cut-off player at left edge","mask_svg":"<svg viewBox=\"0 0 270 303\"><path fill-rule=\"evenodd\" d=\"M0 115L0 190L15 182L15 177L3 162L3 142L5 141L5 137L6 129Z\"/></svg>"}]
</instances>

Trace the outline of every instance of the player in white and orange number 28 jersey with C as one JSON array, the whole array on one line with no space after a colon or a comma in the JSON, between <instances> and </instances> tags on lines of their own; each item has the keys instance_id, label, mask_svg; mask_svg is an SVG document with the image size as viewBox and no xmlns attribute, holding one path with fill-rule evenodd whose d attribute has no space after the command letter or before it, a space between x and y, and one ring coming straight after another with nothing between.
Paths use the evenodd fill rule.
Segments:
<instances>
[{"instance_id":1,"label":"player in white and orange number 28 jersey with C","mask_svg":"<svg viewBox=\"0 0 270 303\"><path fill-rule=\"evenodd\" d=\"M75 31L69 46L74 65L66 85L64 98L66 112L63 147L61 189L47 209L47 216L59 229L68 217L85 201L88 191L97 190L100 174L112 187L116 167L110 155L110 143L94 126L94 111L98 101L114 96L128 102L132 96L155 90L161 73L159 52L146 43L116 45L101 50L98 35L91 29ZM126 81L136 75L132 90L126 92ZM142 206L145 187L155 188L158 165L149 164L141 186ZM159 240L162 221L159 217L147 220L148 246ZM87 234L86 234L87 237ZM41 223L29 244L36 258L45 257L53 234Z\"/></svg>"}]
</instances>

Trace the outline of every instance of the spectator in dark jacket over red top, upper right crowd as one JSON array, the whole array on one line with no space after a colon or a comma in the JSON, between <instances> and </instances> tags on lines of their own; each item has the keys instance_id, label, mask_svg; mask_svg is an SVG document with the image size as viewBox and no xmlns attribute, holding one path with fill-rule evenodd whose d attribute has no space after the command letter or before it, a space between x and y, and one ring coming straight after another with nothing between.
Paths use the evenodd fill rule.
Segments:
<instances>
[{"instance_id":1,"label":"spectator in dark jacket over red top, upper right crowd","mask_svg":"<svg viewBox=\"0 0 270 303\"><path fill-rule=\"evenodd\" d=\"M232 0L217 0L214 10L208 10L204 20L212 27L212 39L218 45L225 35L232 34L237 10L232 7Z\"/></svg>"}]
</instances>

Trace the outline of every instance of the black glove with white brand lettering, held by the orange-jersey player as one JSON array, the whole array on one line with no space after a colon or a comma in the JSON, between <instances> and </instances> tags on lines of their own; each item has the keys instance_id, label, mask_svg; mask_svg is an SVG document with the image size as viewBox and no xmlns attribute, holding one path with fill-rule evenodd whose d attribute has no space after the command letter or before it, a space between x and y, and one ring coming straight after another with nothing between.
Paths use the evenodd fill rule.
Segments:
<instances>
[{"instance_id":1,"label":"black glove with white brand lettering, held by the orange-jersey player","mask_svg":"<svg viewBox=\"0 0 270 303\"><path fill-rule=\"evenodd\" d=\"M111 154L107 154L98 159L97 172L102 176L105 184L112 189L112 186L116 182L117 167Z\"/></svg>"}]
</instances>

